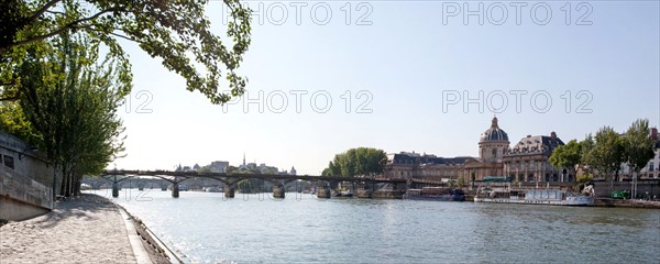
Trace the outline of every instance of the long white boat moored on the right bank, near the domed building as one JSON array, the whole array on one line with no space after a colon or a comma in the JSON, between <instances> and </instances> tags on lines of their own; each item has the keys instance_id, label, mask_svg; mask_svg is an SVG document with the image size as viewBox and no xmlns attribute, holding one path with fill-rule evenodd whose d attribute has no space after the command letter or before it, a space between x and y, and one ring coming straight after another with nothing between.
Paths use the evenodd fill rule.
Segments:
<instances>
[{"instance_id":1,"label":"long white boat moored on the right bank, near the domed building","mask_svg":"<svg viewBox=\"0 0 660 264\"><path fill-rule=\"evenodd\" d=\"M481 190L481 191L480 191ZM502 202L550 206L593 206L592 195L581 195L564 189L512 189L508 187L480 188L475 202Z\"/></svg>"}]
</instances>

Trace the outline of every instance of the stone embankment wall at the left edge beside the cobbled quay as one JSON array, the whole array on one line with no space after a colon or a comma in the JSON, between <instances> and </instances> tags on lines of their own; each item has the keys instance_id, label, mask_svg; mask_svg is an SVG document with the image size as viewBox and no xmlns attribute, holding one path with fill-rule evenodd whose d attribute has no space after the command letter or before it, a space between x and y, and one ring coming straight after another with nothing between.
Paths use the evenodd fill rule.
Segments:
<instances>
[{"instance_id":1,"label":"stone embankment wall at the left edge beside the cobbled quay","mask_svg":"<svg viewBox=\"0 0 660 264\"><path fill-rule=\"evenodd\" d=\"M52 210L54 173L41 153L0 131L0 219L21 221Z\"/></svg>"}]
</instances>

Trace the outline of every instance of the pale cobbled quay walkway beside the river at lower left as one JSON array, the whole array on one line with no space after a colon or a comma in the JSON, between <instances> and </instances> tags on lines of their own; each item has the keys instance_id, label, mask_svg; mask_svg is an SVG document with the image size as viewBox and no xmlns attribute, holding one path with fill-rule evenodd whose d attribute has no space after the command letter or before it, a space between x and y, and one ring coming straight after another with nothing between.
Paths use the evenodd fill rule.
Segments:
<instances>
[{"instance_id":1,"label":"pale cobbled quay walkway beside the river at lower left","mask_svg":"<svg viewBox=\"0 0 660 264\"><path fill-rule=\"evenodd\" d=\"M0 264L136 263L117 206L96 195L0 227Z\"/></svg>"}]
</instances>

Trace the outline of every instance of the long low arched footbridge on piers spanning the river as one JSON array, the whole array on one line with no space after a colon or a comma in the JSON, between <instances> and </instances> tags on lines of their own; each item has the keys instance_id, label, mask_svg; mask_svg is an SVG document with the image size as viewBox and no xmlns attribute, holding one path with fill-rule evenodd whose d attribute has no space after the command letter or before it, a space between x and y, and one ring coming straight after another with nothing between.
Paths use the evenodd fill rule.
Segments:
<instances>
[{"instance_id":1,"label":"long low arched footbridge on piers spanning the river","mask_svg":"<svg viewBox=\"0 0 660 264\"><path fill-rule=\"evenodd\" d=\"M273 197L285 198L285 184L295 180L306 180L316 183L317 197L330 198L331 187L337 183L351 183L351 188L355 189L358 197L372 198L376 191L376 185L388 184L388 195L393 198L399 197L413 185L419 186L440 186L440 182L429 182L421 179L403 178L381 178L381 177L342 177L342 176L310 176L310 175L278 175L278 174L227 174L227 173L198 173L198 172L172 172L172 170L105 170L101 177L112 182L112 197L119 197L119 183L130 178L160 178L172 184L172 197L179 197L179 184L190 179L215 179L224 184L224 197L233 198L235 187L239 182L244 179L262 179L273 185ZM355 187L358 185L358 187ZM144 185L138 185L143 188ZM161 185L163 190L167 186Z\"/></svg>"}]
</instances>

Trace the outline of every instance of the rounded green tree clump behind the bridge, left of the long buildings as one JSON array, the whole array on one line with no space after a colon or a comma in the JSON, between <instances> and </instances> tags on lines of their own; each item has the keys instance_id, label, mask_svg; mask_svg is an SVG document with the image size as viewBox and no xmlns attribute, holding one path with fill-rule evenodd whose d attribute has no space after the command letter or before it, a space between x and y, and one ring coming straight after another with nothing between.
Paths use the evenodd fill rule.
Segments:
<instances>
[{"instance_id":1,"label":"rounded green tree clump behind the bridge, left of the long buildings","mask_svg":"<svg viewBox=\"0 0 660 264\"><path fill-rule=\"evenodd\" d=\"M323 169L322 176L375 176L382 174L387 164L387 154L372 147L358 147L334 155Z\"/></svg>"}]
</instances>

